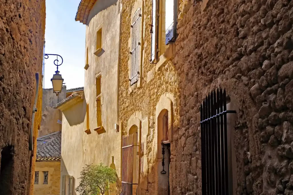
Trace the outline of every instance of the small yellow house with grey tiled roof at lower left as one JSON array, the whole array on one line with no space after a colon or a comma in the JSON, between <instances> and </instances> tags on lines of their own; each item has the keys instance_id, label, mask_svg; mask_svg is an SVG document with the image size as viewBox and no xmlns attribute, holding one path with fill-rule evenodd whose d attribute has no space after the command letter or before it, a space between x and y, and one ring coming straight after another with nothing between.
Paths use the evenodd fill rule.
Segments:
<instances>
[{"instance_id":1,"label":"small yellow house with grey tiled roof at lower left","mask_svg":"<svg viewBox=\"0 0 293 195\"><path fill-rule=\"evenodd\" d=\"M59 195L61 132L37 139L37 158L35 164L34 195Z\"/></svg>"}]
</instances>

